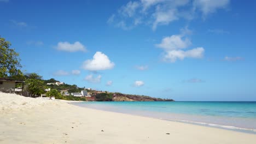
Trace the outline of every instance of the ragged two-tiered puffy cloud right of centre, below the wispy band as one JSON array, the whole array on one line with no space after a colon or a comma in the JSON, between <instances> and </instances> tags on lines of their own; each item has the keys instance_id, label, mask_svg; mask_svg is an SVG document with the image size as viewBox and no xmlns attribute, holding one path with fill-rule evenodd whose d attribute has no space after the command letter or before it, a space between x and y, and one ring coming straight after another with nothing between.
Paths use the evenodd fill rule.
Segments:
<instances>
[{"instance_id":1,"label":"ragged two-tiered puffy cloud right of centre, below the wispy band","mask_svg":"<svg viewBox=\"0 0 256 144\"><path fill-rule=\"evenodd\" d=\"M187 29L186 32L191 31ZM155 46L164 50L162 59L166 62L176 62L177 59L183 60L186 57L202 58L205 49L203 49L203 47L196 47L194 49L185 50L190 45L191 41L186 37L184 29L182 29L181 34L165 37L162 39L160 44L156 44Z\"/></svg>"}]
</instances>

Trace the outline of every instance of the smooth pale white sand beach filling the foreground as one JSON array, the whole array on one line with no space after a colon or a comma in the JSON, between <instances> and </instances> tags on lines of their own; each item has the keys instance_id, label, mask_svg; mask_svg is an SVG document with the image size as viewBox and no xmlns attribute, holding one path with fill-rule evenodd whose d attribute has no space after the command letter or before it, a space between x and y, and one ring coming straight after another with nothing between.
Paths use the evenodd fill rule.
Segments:
<instances>
[{"instance_id":1,"label":"smooth pale white sand beach filling the foreground","mask_svg":"<svg viewBox=\"0 0 256 144\"><path fill-rule=\"evenodd\" d=\"M234 144L255 141L254 134L0 92L0 143Z\"/></svg>"}]
</instances>

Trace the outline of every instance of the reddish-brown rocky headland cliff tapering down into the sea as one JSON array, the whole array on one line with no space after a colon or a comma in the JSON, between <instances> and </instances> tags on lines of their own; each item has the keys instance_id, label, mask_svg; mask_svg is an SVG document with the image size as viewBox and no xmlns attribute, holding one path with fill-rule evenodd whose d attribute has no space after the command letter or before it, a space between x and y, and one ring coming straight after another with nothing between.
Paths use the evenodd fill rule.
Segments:
<instances>
[{"instance_id":1,"label":"reddish-brown rocky headland cliff tapering down into the sea","mask_svg":"<svg viewBox=\"0 0 256 144\"><path fill-rule=\"evenodd\" d=\"M132 94L122 94L122 93L114 93L113 101L174 101L172 99L160 99L160 98L152 98L143 95L132 95Z\"/></svg>"}]
</instances>

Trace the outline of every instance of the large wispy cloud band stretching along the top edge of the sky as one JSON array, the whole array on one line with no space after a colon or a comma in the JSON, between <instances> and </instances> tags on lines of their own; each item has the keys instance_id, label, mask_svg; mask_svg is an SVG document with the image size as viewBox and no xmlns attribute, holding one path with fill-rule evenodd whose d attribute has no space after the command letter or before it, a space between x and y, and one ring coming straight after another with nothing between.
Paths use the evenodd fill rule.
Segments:
<instances>
[{"instance_id":1,"label":"large wispy cloud band stretching along the top edge of the sky","mask_svg":"<svg viewBox=\"0 0 256 144\"><path fill-rule=\"evenodd\" d=\"M155 30L179 19L191 20L194 15L208 14L228 7L230 0L140 0L129 1L112 14L108 23L124 30L150 25Z\"/></svg>"}]
</instances>

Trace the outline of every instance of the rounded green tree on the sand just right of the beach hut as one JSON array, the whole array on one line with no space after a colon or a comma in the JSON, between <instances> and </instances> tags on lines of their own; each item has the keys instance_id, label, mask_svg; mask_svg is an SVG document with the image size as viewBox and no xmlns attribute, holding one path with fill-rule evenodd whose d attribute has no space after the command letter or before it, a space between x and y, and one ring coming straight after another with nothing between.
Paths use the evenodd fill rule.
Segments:
<instances>
[{"instance_id":1,"label":"rounded green tree on the sand just right of the beach hut","mask_svg":"<svg viewBox=\"0 0 256 144\"><path fill-rule=\"evenodd\" d=\"M42 80L42 76L32 73L27 76L27 80L25 81L28 92L30 93L31 97L36 97L36 95L41 95L45 93L45 85L44 81Z\"/></svg>"}]
</instances>

